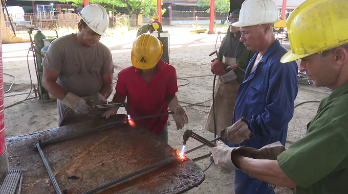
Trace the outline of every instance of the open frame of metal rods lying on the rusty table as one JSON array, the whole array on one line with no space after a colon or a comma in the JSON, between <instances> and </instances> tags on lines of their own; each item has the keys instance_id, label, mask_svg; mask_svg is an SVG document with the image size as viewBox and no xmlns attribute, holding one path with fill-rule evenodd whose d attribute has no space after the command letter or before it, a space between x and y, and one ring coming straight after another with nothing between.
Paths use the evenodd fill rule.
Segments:
<instances>
[{"instance_id":1,"label":"open frame of metal rods lying on the rusty table","mask_svg":"<svg viewBox=\"0 0 348 194\"><path fill-rule=\"evenodd\" d=\"M142 116L142 117L132 118L132 120L144 119L144 118L155 117L155 116L163 116L163 115L169 115L169 114L174 114L174 112L167 112L167 113L162 113L162 114L155 114L155 115L149 115L149 116ZM54 142L58 142L58 141L61 141L61 140L66 140L66 139L69 139L69 138L73 138L73 137L77 137L77 136L89 134L89 133L91 133L91 132L101 131L101 130L104 130L104 129L108 128L108 127L114 126L114 125L116 125L116 124L126 123L127 121L128 121L128 119L124 119L124 120L120 120L120 121L118 121L118 122L114 122L114 123L111 123L111 124L105 124L105 125L102 125L102 126L99 126L99 127L95 127L95 128L92 128L92 129L90 129L90 130L88 130L88 131L83 131L83 132L75 133L75 134L72 134L72 135L63 135L63 136L61 136L61 137L54 138L54 139L50 139L50 140L46 140L46 141L41 141L41 139L38 139L38 143L36 143L36 144L34 144L34 145L35 145L35 147L37 148L37 150L38 150L38 152L39 152L39 154L40 154L40 156L41 156L41 159L42 159L42 161L43 161L44 164L45 164L45 167L46 167L46 169L47 169L47 172L48 172L48 174L49 174L49 177L50 177L50 179L51 179L51 181L52 181L52 184L53 184L54 189L56 190L56 193L57 193L57 194L63 194L63 193L64 193L64 190L63 190L63 192L61 191L61 189L60 189L60 187L59 187L59 184L58 184L56 178L54 177L54 173L53 173L53 171L52 171L52 168L51 168L51 166L50 166L50 164L49 164L47 158L45 157L45 154L42 152L42 149L41 149L41 148L44 147L44 146L47 146L48 144L54 143ZM220 139L220 138L221 138L221 137L217 137L217 138L211 140L210 142L216 141L216 140L218 140L218 139ZM204 147L204 146L207 146L207 144L204 143L204 144L202 144L201 146L198 146L198 147L195 147L195 148L193 148L193 149L191 149L191 150L186 151L184 154L186 155L186 154L188 154L188 153L190 153L190 152L193 152L193 151L195 151L195 150L198 150L198 149L200 149L200 148L202 148L202 147ZM122 182L122 181L124 181L124 180L127 180L127 179L132 178L132 177L134 177L134 176L136 176L136 175L139 175L139 174L141 174L141 173L143 173L143 172L146 172L146 171L148 171L148 170L150 170L150 169L153 169L153 168L155 168L155 167L158 167L158 166L167 164L167 163L169 163L169 162L175 160L175 159L178 158L178 157L179 157L179 155L172 156L172 157L167 158L167 159L165 159L165 160L163 160L163 161L161 161L161 162L158 162L158 163L149 165L149 166L147 166L147 167L145 167L145 168L140 169L139 171L136 171L136 172L134 172L134 173L130 173L130 174L128 174L128 175L125 175L125 176L123 176L123 177L120 177L120 178L118 178L118 179L115 179L115 180L113 180L113 181L111 181L111 182L108 182L108 183L106 183L106 184L103 184L103 185L101 185L101 186L98 186L98 187L96 187L96 188L93 188L93 189L91 189L91 190L88 190L88 191L86 191L86 192L83 192L83 193L81 193L81 194L92 194L92 193L96 193L96 192L98 192L98 191L100 191L100 190L103 190L103 189L105 189L105 188L111 187L111 186L113 186L113 185L115 185L115 184L117 184L117 183L120 183L120 182Z\"/></svg>"}]
</instances>

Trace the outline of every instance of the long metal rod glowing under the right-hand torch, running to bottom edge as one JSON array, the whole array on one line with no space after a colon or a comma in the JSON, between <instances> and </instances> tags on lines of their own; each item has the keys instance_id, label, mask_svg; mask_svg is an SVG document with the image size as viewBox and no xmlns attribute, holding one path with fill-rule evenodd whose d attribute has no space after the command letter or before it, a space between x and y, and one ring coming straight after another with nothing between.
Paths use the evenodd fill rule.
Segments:
<instances>
[{"instance_id":1,"label":"long metal rod glowing under the right-hand torch, running to bottom edge","mask_svg":"<svg viewBox=\"0 0 348 194\"><path fill-rule=\"evenodd\" d=\"M217 137L217 138L211 140L211 142L212 142L212 141L219 140L220 138L221 138L221 137ZM188 153L190 153L190 152L193 152L194 150L197 150L197 149L199 149L199 148L202 148L202 147L204 147L204 146L206 146L206 145L207 145L207 144L202 144L202 145L199 146L199 147L193 148L192 150L189 150L189 151L185 152L184 155L186 155L186 154L188 154ZM100 191L100 190L103 190L103 189L108 188L108 187L111 187L111 186L113 186L113 185L115 185L115 184L117 184L117 183L120 183L120 182L122 182L122 181L124 181L124 180L126 180L126 179L129 179L129 178L132 178L132 177L134 177L134 176L136 176L136 175L139 175L139 174L141 174L141 173L144 173L145 171L149 171L150 169L153 169L153 168L158 167L158 166L160 166L160 165L167 164L167 163L169 163L169 162L175 160L175 159L178 158L179 156L180 156L180 155L172 156L172 157L170 157L170 158L168 158L168 159L165 159L165 160L163 160L163 161L161 161L161 162L155 163L155 164L153 164L153 165L149 165L149 166L147 166L147 167L145 167L145 168L140 169L139 171L136 171L136 172L130 173L130 174L126 175L126 176L120 177L120 178L118 178L118 179L116 179L116 180L113 180L113 181L111 181L111 182L108 182L108 183L106 183L106 184L103 184L103 185L101 185L101 186L98 186L98 187L96 187L96 188L93 188L93 189L91 189L91 190L89 190L89 191L83 192L82 194L93 194L93 193L96 193L96 192L98 192L98 191Z\"/></svg>"}]
</instances>

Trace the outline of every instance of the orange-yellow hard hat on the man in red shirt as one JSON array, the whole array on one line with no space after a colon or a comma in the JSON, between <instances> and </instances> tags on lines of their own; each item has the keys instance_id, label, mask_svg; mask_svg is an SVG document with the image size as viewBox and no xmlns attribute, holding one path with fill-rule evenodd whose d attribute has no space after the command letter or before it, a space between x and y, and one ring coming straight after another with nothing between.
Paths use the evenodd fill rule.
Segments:
<instances>
[{"instance_id":1,"label":"orange-yellow hard hat on the man in red shirt","mask_svg":"<svg viewBox=\"0 0 348 194\"><path fill-rule=\"evenodd\" d=\"M130 59L139 69L150 69L157 65L163 54L163 45L154 35L142 34L133 42Z\"/></svg>"}]
</instances>

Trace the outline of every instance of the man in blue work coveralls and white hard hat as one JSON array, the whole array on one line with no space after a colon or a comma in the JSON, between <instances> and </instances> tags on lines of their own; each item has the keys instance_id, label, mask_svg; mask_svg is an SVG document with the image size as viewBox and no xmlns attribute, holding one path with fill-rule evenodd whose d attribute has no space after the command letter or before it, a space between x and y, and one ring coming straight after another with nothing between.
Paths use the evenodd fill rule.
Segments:
<instances>
[{"instance_id":1,"label":"man in blue work coveralls and white hard hat","mask_svg":"<svg viewBox=\"0 0 348 194\"><path fill-rule=\"evenodd\" d=\"M298 67L295 62L280 63L288 51L274 38L272 25L279 21L278 13L278 6L272 0L246 0L239 21L232 23L240 27L240 40L247 49L257 52L238 88L233 125L221 133L222 140L230 147L260 149L277 141L285 145L298 90ZM221 167L226 158L231 160L231 155L213 154L213 158ZM242 171L234 172L234 190L236 194L274 193L267 182Z\"/></svg>"}]
</instances>

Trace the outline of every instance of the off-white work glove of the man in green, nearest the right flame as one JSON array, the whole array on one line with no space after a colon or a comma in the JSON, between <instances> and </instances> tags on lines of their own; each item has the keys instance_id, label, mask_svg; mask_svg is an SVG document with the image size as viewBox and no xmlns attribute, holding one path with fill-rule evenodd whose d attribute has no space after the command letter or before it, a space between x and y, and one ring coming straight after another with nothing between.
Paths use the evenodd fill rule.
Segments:
<instances>
[{"instance_id":1,"label":"off-white work glove of the man in green, nearest the right flame","mask_svg":"<svg viewBox=\"0 0 348 194\"><path fill-rule=\"evenodd\" d=\"M235 169L239 169L233 164L231 158L232 151L238 148L240 147L230 148L222 141L217 141L217 146L211 148L211 155L213 156L214 163L219 167L222 173L228 174Z\"/></svg>"}]
</instances>

